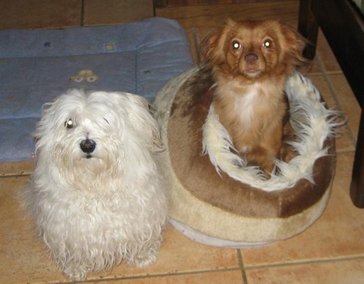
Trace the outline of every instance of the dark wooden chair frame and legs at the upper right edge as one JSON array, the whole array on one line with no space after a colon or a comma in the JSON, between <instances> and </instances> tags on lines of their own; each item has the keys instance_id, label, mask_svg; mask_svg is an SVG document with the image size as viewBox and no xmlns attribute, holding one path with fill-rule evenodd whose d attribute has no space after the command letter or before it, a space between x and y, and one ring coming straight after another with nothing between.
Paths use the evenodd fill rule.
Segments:
<instances>
[{"instance_id":1,"label":"dark wooden chair frame and legs at the upper right edge","mask_svg":"<svg viewBox=\"0 0 364 284\"><path fill-rule=\"evenodd\" d=\"M328 13L330 11L330 13ZM361 70L364 67L363 29L353 17L353 8L345 0L300 0L298 31L311 46L304 56L313 59L316 50L318 25L325 34L342 71L349 81L360 106L364 106L364 85ZM364 112L360 116L356 154L350 186L353 204L364 208Z\"/></svg>"}]
</instances>

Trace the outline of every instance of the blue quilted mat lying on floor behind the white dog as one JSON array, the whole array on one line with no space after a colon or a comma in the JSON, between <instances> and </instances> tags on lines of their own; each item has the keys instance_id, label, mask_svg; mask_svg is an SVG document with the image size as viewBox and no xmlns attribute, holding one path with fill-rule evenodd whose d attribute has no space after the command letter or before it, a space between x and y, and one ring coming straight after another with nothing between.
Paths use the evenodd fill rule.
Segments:
<instances>
[{"instance_id":1,"label":"blue quilted mat lying on floor behind the white dog","mask_svg":"<svg viewBox=\"0 0 364 284\"><path fill-rule=\"evenodd\" d=\"M193 65L174 20L103 27L0 31L0 162L33 158L45 102L69 88L137 93L151 100Z\"/></svg>"}]
</instances>

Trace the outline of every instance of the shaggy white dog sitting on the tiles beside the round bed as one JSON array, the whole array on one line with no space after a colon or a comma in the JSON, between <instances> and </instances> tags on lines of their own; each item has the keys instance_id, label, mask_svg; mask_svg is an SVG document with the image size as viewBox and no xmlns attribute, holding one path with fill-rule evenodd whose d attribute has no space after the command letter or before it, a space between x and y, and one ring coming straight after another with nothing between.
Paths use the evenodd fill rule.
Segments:
<instances>
[{"instance_id":1,"label":"shaggy white dog sitting on the tiles beside the round bed","mask_svg":"<svg viewBox=\"0 0 364 284\"><path fill-rule=\"evenodd\" d=\"M65 275L155 262L167 219L158 125L143 97L71 90L45 104L25 201Z\"/></svg>"}]
</instances>

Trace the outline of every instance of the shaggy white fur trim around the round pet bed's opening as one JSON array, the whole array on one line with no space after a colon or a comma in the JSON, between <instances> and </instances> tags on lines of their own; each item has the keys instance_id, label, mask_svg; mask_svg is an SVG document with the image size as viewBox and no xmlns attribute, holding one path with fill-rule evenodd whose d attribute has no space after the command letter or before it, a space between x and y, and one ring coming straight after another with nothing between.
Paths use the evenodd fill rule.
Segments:
<instances>
[{"instance_id":1,"label":"shaggy white fur trim around the round pet bed's opening","mask_svg":"<svg viewBox=\"0 0 364 284\"><path fill-rule=\"evenodd\" d=\"M314 162L328 153L323 144L326 138L337 134L336 129L343 122L337 120L338 111L325 108L318 90L298 72L286 82L286 94L290 102L290 123L299 138L299 142L289 144L299 155L288 163L274 161L278 174L272 174L269 179L265 178L260 168L247 166L246 161L235 154L237 151L231 137L211 105L202 129L202 146L204 154L209 154L219 174L223 171L239 182L264 191L290 188L300 179L314 182Z\"/></svg>"}]
</instances>

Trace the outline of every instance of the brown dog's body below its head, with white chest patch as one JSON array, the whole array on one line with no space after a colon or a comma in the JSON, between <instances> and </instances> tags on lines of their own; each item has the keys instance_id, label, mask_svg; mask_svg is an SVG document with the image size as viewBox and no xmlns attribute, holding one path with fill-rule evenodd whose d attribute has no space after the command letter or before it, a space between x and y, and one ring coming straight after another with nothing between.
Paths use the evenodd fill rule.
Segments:
<instances>
[{"instance_id":1,"label":"brown dog's body below its head, with white chest patch","mask_svg":"<svg viewBox=\"0 0 364 284\"><path fill-rule=\"evenodd\" d=\"M214 108L218 118L236 149L258 163L262 163L261 159L252 153L262 154L273 147L274 151L267 153L272 157L281 147L287 108L281 85L256 82L241 86L239 81L232 80L216 90Z\"/></svg>"}]
</instances>

